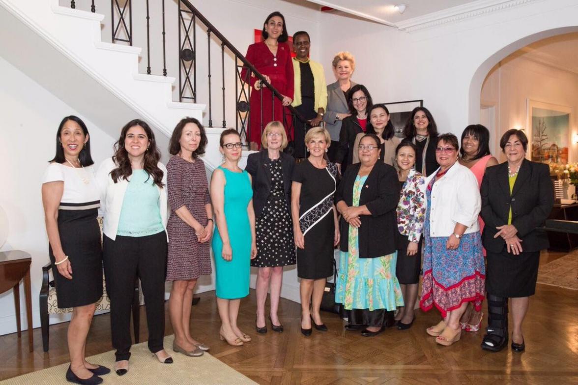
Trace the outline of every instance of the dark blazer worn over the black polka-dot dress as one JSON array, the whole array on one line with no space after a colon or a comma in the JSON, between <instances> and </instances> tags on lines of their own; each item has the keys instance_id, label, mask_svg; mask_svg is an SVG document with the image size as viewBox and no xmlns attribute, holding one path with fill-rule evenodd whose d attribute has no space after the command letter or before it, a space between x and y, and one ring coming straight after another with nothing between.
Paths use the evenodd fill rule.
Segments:
<instances>
[{"instance_id":1,"label":"dark blazer worn over the black polka-dot dress","mask_svg":"<svg viewBox=\"0 0 578 385\"><path fill-rule=\"evenodd\" d=\"M283 172L283 189L285 193L285 200L287 208L291 212L291 175L293 173L293 166L295 165L295 158L281 152L281 171ZM247 157L247 166L245 170L251 174L253 180L253 208L255 210L255 217L261 214L261 210L265 207L269 193L271 192L271 170L269 169L269 153L266 149L258 153L250 154Z\"/></svg>"}]
</instances>

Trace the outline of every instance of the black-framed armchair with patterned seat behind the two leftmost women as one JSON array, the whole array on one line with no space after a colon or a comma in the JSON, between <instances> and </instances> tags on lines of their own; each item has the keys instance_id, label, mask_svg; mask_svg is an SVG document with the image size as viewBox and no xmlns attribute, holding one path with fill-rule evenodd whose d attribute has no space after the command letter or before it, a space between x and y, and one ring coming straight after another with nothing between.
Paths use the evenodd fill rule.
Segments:
<instances>
[{"instance_id":1,"label":"black-framed armchair with patterned seat behind the two leftmost women","mask_svg":"<svg viewBox=\"0 0 578 385\"><path fill-rule=\"evenodd\" d=\"M101 240L102 240L102 218L98 218L101 226ZM58 308L58 300L56 297L56 288L54 287L54 280L50 280L50 271L52 263L48 262L42 266L42 286L40 287L40 295L38 296L40 302L40 328L42 329L42 347L44 351L48 351L48 332L49 332L49 314L64 314L72 313L72 308L61 309ZM139 343L139 325L140 325L140 288L139 279L135 279L135 291L132 296L132 325L135 332L135 343ZM110 310L110 299L106 293L106 284L104 274L102 275L102 297L97 301L97 309Z\"/></svg>"}]
</instances>

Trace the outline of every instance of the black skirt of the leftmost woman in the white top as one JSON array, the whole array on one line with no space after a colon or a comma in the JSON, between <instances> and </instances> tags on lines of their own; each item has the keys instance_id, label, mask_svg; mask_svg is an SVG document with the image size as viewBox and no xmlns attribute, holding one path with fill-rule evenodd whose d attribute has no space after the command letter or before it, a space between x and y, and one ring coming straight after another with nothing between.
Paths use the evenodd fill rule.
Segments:
<instances>
[{"instance_id":1,"label":"black skirt of the leftmost woman in the white top","mask_svg":"<svg viewBox=\"0 0 578 385\"><path fill-rule=\"evenodd\" d=\"M66 209L62 209L63 207ZM101 231L97 221L98 209L68 209L70 207L79 208L81 205L61 203L61 209L58 210L58 232L62 250L72 266L72 279L66 279L58 272L54 265L52 247L49 246L58 308L61 309L90 305L102 297L102 249Z\"/></svg>"}]
</instances>

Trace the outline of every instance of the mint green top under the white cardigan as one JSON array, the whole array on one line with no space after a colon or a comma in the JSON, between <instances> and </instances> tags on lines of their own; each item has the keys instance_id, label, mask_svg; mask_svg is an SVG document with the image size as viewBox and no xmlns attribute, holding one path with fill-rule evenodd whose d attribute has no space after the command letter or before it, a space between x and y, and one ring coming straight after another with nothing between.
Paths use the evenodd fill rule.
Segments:
<instances>
[{"instance_id":1,"label":"mint green top under the white cardigan","mask_svg":"<svg viewBox=\"0 0 578 385\"><path fill-rule=\"evenodd\" d=\"M160 195L153 177L144 170L132 170L116 234L147 236L163 230Z\"/></svg>"}]
</instances>

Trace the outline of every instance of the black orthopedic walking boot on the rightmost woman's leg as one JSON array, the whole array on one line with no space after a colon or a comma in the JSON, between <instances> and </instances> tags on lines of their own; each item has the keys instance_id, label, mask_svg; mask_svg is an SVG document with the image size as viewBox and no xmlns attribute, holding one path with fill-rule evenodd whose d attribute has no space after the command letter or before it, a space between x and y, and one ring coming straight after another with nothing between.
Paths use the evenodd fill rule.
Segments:
<instances>
[{"instance_id":1,"label":"black orthopedic walking boot on the rightmost woman's leg","mask_svg":"<svg viewBox=\"0 0 578 385\"><path fill-rule=\"evenodd\" d=\"M507 297L488 293L488 326L481 349L500 351L507 345L507 341Z\"/></svg>"}]
</instances>

